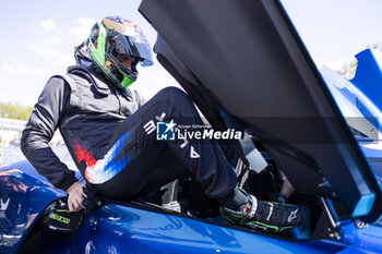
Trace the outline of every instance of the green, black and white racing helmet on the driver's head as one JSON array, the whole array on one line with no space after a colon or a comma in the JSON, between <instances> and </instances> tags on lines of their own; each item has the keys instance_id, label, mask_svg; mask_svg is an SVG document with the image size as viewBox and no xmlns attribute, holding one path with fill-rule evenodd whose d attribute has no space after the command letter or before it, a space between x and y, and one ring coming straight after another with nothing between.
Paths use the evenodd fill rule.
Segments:
<instances>
[{"instance_id":1,"label":"green, black and white racing helmet on the driver's head","mask_svg":"<svg viewBox=\"0 0 382 254\"><path fill-rule=\"evenodd\" d=\"M151 45L142 29L121 16L108 16L98 21L92 28L86 51L93 62L121 89L134 83L138 77L136 64L153 64ZM131 70L123 65L118 56L134 58Z\"/></svg>"}]
</instances>

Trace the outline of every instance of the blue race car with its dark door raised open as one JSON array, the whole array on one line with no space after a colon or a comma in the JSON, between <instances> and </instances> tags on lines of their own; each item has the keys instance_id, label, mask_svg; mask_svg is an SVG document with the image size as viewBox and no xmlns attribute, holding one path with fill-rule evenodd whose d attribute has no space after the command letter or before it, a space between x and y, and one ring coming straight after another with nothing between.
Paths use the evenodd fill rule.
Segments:
<instances>
[{"instance_id":1,"label":"blue race car with its dark door raised open","mask_svg":"<svg viewBox=\"0 0 382 254\"><path fill-rule=\"evenodd\" d=\"M382 253L378 52L357 56L351 81L320 73L276 0L143 0L140 11L157 59L214 129L250 134L222 143L240 186L273 201L285 174L310 219L277 234L232 226L179 179L53 231L44 221L65 193L21 161L0 170L0 253ZM254 146L268 162L260 172L248 169Z\"/></svg>"}]
</instances>

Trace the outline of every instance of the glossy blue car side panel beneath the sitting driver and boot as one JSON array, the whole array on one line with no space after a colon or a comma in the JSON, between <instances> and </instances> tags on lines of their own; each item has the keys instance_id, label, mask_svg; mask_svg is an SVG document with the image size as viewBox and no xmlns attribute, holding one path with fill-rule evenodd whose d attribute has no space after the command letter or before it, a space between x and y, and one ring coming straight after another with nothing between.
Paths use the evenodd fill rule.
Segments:
<instances>
[{"instance_id":1,"label":"glossy blue car side panel beneath the sitting driver and boot","mask_svg":"<svg viewBox=\"0 0 382 254\"><path fill-rule=\"evenodd\" d=\"M83 253L327 253L338 242L285 241L177 215L108 203L77 232ZM100 233L102 232L102 233ZM314 246L314 247L313 247ZM84 250L86 250L84 252ZM87 251L91 250L91 251Z\"/></svg>"}]
</instances>

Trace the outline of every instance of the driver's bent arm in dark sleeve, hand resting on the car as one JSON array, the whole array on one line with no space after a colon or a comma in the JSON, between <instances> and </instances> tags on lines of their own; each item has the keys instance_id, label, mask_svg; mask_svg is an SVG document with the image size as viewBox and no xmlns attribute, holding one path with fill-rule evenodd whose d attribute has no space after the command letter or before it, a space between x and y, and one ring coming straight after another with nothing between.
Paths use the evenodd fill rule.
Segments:
<instances>
[{"instance_id":1,"label":"driver's bent arm in dark sleeve, hand resting on the car","mask_svg":"<svg viewBox=\"0 0 382 254\"><path fill-rule=\"evenodd\" d=\"M50 78L23 131L21 149L36 170L51 184L64 191L75 190L77 193L79 184L73 186L77 183L74 171L57 157L49 145L69 106L69 99L70 86L67 82L60 77Z\"/></svg>"}]
</instances>

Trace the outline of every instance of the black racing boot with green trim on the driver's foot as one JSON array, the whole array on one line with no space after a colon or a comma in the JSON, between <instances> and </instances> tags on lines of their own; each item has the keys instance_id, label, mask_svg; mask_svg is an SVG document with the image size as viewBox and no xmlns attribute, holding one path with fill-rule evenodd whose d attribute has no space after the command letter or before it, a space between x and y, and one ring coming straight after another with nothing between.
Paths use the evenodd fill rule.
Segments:
<instances>
[{"instance_id":1,"label":"black racing boot with green trim on the driver's foot","mask_svg":"<svg viewBox=\"0 0 382 254\"><path fill-rule=\"evenodd\" d=\"M301 207L288 204L258 201L248 195L247 202L237 210L220 207L220 214L229 222L266 232L280 232L293 229L305 221Z\"/></svg>"}]
</instances>

